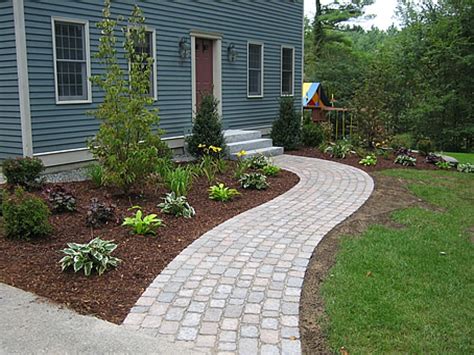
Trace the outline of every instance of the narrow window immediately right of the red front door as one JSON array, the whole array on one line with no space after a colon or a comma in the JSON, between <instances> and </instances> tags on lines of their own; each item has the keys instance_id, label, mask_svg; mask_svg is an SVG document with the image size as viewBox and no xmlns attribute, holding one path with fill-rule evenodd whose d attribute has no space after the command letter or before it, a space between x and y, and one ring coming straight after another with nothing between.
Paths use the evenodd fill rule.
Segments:
<instances>
[{"instance_id":1,"label":"narrow window immediately right of the red front door","mask_svg":"<svg viewBox=\"0 0 474 355\"><path fill-rule=\"evenodd\" d=\"M263 44L248 43L247 96L263 97Z\"/></svg>"}]
</instances>

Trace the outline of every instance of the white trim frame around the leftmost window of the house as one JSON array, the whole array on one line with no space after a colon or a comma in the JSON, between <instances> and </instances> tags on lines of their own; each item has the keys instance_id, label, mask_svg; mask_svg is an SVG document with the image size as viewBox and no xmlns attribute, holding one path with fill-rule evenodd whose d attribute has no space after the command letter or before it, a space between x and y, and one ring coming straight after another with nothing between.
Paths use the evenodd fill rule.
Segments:
<instances>
[{"instance_id":1,"label":"white trim frame around the leftmost window of the house","mask_svg":"<svg viewBox=\"0 0 474 355\"><path fill-rule=\"evenodd\" d=\"M86 51L86 82L87 82L87 100L59 100L59 90L58 90L58 70L57 70L57 61L56 61L56 31L55 31L55 22L69 22L69 23L78 23L84 25L84 36L85 36L85 51ZM54 92L56 96L56 105L70 105L70 104L90 104L92 103L92 83L90 81L91 77L91 54L90 54L90 39L89 39L89 21L87 20L78 20L71 19L66 17L56 17L51 16L51 33L53 37L53 66L54 66Z\"/></svg>"}]
</instances>

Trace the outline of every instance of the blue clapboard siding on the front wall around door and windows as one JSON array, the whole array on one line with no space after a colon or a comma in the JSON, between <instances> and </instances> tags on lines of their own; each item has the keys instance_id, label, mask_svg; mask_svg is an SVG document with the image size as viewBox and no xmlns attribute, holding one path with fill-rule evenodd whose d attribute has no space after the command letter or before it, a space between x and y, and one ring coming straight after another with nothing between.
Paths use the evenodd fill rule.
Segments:
<instances>
[{"instance_id":1,"label":"blue clapboard siding on the front wall around door and windows","mask_svg":"<svg viewBox=\"0 0 474 355\"><path fill-rule=\"evenodd\" d=\"M168 137L182 136L191 127L191 58L178 55L181 37L191 30L220 33L222 40L223 120L229 128L270 126L278 114L281 45L295 47L295 102L301 97L302 1L138 1L156 29L158 100L161 127ZM129 15L131 1L114 1L114 15ZM85 115L96 107L102 94L93 89L93 104L56 105L51 16L89 20L91 52L97 51L102 2L25 1L28 70L34 153L81 148L94 135L98 122ZM265 44L264 98L247 98L247 41ZM238 58L227 59L234 43ZM98 73L92 58L92 74ZM126 65L124 63L124 65Z\"/></svg>"}]
</instances>

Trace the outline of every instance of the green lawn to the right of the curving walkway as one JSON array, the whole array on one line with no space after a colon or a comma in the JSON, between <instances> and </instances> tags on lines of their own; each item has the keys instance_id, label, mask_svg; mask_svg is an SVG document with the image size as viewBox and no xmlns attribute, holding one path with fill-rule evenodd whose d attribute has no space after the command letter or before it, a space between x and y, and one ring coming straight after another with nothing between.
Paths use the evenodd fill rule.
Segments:
<instances>
[{"instance_id":1,"label":"green lawn to the right of the curving walkway","mask_svg":"<svg viewBox=\"0 0 474 355\"><path fill-rule=\"evenodd\" d=\"M350 353L474 353L474 177L389 170L435 208L343 238L322 287L329 345ZM470 211L470 212L469 212Z\"/></svg>"}]
</instances>

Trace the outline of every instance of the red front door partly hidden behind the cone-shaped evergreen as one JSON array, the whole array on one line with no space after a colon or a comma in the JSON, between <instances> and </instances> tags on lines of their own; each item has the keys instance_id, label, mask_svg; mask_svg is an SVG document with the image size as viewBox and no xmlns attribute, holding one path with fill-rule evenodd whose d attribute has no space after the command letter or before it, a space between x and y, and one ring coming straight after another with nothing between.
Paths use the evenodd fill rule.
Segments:
<instances>
[{"instance_id":1,"label":"red front door partly hidden behind the cone-shaped evergreen","mask_svg":"<svg viewBox=\"0 0 474 355\"><path fill-rule=\"evenodd\" d=\"M196 110L202 96L212 94L212 40L196 38Z\"/></svg>"}]
</instances>

